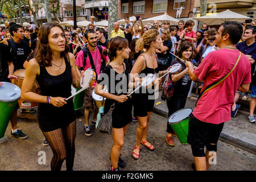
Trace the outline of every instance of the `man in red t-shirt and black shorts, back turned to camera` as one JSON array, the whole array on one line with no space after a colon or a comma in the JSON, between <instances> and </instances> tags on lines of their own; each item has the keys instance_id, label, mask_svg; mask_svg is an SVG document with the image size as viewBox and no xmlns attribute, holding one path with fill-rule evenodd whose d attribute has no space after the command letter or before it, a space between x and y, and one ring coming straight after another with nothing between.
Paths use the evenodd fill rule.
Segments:
<instances>
[{"instance_id":1,"label":"man in red t-shirt and black shorts, back turned to camera","mask_svg":"<svg viewBox=\"0 0 256 182\"><path fill-rule=\"evenodd\" d=\"M241 36L242 26L239 23L222 23L216 35L216 46L221 49L210 52L195 70L191 62L186 63L191 80L203 80L202 90L221 80L232 70L239 56L236 44ZM224 122L230 120L234 95L237 90L249 90L250 72L250 61L241 53L233 72L198 100L191 114L188 130L188 143L191 144L196 170L207 170L216 159L218 138ZM206 153L204 146L207 148Z\"/></svg>"}]
</instances>

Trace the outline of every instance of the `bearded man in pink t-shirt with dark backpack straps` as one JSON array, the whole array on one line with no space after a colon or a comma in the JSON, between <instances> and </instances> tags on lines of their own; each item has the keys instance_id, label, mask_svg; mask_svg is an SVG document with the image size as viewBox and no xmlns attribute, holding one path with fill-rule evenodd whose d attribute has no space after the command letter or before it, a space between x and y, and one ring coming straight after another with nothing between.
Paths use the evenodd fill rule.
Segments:
<instances>
[{"instance_id":1,"label":"bearded man in pink t-shirt with dark backpack straps","mask_svg":"<svg viewBox=\"0 0 256 182\"><path fill-rule=\"evenodd\" d=\"M105 47L97 46L97 34L94 30L86 30L84 37L86 42L88 42L88 46L82 48L82 50L77 54L76 65L80 69L82 68L84 71L91 68L96 72L96 81L92 87L85 90L84 134L89 137L92 135L89 127L89 115L90 111L93 110L93 88L97 83L97 78L100 76L100 73L105 68L105 65L108 64L109 58L108 56L102 55L102 51L105 49ZM96 125L97 114L98 109L95 107L92 125Z\"/></svg>"}]
</instances>

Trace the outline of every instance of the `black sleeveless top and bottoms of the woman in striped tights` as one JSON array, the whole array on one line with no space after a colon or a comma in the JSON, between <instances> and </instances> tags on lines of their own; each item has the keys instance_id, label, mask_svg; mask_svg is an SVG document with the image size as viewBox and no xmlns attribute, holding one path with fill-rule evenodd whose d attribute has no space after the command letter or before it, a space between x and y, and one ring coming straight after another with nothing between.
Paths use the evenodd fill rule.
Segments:
<instances>
[{"instance_id":1,"label":"black sleeveless top and bottoms of the woman in striped tights","mask_svg":"<svg viewBox=\"0 0 256 182\"><path fill-rule=\"evenodd\" d=\"M36 77L42 96L63 97L71 96L72 74L71 65L66 57L65 71L57 76L50 75L46 67L40 67L40 75ZM67 126L76 120L73 100L69 99L62 107L40 103L38 106L38 122L43 132L56 130Z\"/></svg>"}]
</instances>

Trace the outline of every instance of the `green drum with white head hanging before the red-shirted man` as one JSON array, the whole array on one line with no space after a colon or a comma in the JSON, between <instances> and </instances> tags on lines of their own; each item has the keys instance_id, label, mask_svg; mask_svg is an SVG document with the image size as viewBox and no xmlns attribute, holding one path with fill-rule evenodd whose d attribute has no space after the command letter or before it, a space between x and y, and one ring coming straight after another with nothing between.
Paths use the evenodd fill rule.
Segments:
<instances>
[{"instance_id":1,"label":"green drum with white head hanging before the red-shirted man","mask_svg":"<svg viewBox=\"0 0 256 182\"><path fill-rule=\"evenodd\" d=\"M189 115L192 113L191 108L180 109L170 116L168 124L175 131L177 138L183 144L187 144L188 139L188 122Z\"/></svg>"}]
</instances>

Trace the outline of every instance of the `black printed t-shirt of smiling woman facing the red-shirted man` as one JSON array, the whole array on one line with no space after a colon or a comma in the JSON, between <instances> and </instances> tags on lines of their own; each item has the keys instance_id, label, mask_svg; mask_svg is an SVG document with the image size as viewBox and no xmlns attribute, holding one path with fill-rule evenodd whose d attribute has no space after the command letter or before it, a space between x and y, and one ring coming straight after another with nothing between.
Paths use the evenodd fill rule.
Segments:
<instances>
[{"instance_id":1,"label":"black printed t-shirt of smiling woman facing the red-shirted man","mask_svg":"<svg viewBox=\"0 0 256 182\"><path fill-rule=\"evenodd\" d=\"M185 64L176 59L172 61L171 65L174 65L176 63L179 63L182 66L182 70L180 72L186 69ZM188 95L190 85L191 85L191 78L189 77L188 73L186 73L180 80L176 81L176 85L174 86L174 96L172 97L184 99Z\"/></svg>"}]
</instances>

